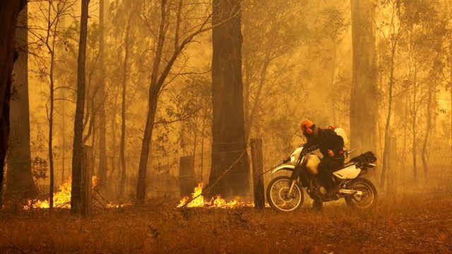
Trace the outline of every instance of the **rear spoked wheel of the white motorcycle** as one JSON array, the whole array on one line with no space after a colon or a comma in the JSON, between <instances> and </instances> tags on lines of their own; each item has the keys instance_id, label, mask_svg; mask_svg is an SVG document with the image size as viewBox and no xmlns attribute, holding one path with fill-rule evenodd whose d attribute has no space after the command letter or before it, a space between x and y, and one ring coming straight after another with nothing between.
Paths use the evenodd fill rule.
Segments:
<instances>
[{"instance_id":1,"label":"rear spoked wheel of the white motorcycle","mask_svg":"<svg viewBox=\"0 0 452 254\"><path fill-rule=\"evenodd\" d=\"M349 195L345 197L345 202L349 207L357 210L368 210L376 204L376 188L371 181L357 178L353 180L347 188L350 190L362 191L362 195Z\"/></svg>"}]
</instances>

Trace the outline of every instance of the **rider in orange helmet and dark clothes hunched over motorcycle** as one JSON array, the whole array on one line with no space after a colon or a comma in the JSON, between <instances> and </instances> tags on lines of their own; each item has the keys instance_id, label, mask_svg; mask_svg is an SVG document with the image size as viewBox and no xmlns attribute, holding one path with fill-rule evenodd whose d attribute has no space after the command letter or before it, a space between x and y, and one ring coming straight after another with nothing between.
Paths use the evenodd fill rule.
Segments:
<instances>
[{"instance_id":1,"label":"rider in orange helmet and dark clothes hunched over motorcycle","mask_svg":"<svg viewBox=\"0 0 452 254\"><path fill-rule=\"evenodd\" d=\"M323 159L319 163L319 176L327 191L335 185L333 171L344 164L344 140L331 128L319 128L312 121L304 120L300 123L303 135L307 138L305 147L319 146Z\"/></svg>"}]
</instances>

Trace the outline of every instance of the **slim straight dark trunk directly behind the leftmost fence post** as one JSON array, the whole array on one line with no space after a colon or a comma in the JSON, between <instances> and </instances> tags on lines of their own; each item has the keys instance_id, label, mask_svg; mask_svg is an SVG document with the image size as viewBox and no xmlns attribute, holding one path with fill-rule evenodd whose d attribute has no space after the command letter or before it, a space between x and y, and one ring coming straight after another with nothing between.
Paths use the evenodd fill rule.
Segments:
<instances>
[{"instance_id":1,"label":"slim straight dark trunk directly behind the leftmost fence post","mask_svg":"<svg viewBox=\"0 0 452 254\"><path fill-rule=\"evenodd\" d=\"M81 212L81 163L82 163L82 138L83 138L83 111L85 109L85 56L86 37L88 33L88 4L89 0L82 0L80 40L78 43L77 61L77 102L76 119L73 131L72 152L72 189L71 189L71 213Z\"/></svg>"}]
</instances>

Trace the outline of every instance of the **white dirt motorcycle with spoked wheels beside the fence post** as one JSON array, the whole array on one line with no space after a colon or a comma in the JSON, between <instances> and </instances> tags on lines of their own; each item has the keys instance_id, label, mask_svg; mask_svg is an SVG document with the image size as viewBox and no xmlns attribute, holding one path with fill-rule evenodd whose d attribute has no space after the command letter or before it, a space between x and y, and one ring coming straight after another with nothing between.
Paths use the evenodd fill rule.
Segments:
<instances>
[{"instance_id":1,"label":"white dirt motorcycle with spoked wheels beside the fence post","mask_svg":"<svg viewBox=\"0 0 452 254\"><path fill-rule=\"evenodd\" d=\"M366 152L333 171L335 188L327 192L318 177L321 159L314 154L317 148L300 145L290 157L273 169L271 174L288 171L290 176L277 176L268 184L266 194L270 207L283 212L299 209L304 200L302 188L306 188L307 194L314 200L314 210L321 210L323 202L340 198L345 198L349 207L358 210L374 207L376 188L371 181L362 177L370 168L376 167L374 154ZM344 151L344 157L347 158L351 152L352 150Z\"/></svg>"}]
</instances>

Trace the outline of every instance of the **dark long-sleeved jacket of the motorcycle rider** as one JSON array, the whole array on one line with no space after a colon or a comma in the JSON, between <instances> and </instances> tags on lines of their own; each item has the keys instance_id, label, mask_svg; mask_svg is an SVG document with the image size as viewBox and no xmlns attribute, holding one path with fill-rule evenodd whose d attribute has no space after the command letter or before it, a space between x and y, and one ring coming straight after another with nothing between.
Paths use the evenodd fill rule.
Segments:
<instances>
[{"instance_id":1,"label":"dark long-sleeved jacket of the motorcycle rider","mask_svg":"<svg viewBox=\"0 0 452 254\"><path fill-rule=\"evenodd\" d=\"M344 149L344 140L343 138L335 133L331 128L322 129L319 128L319 135L314 137L313 135L309 135L307 137L306 147L311 147L313 145L318 145L319 150L322 153L323 157L329 157L328 150L332 150L334 152L334 157L343 158L343 149Z\"/></svg>"}]
</instances>

